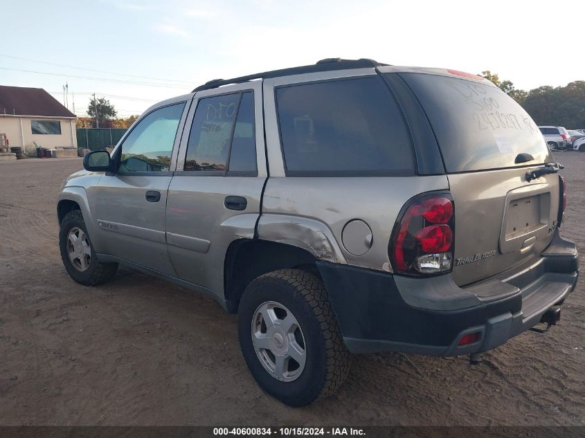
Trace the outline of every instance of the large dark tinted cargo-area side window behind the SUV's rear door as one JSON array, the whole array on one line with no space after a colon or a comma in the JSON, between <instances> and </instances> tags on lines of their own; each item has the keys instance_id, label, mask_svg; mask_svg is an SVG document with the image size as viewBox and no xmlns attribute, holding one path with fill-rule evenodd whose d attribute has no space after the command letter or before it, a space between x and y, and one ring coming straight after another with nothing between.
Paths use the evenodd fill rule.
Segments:
<instances>
[{"instance_id":1,"label":"large dark tinted cargo-area side window behind the SUV's rear door","mask_svg":"<svg viewBox=\"0 0 585 438\"><path fill-rule=\"evenodd\" d=\"M411 138L379 76L276 89L287 175L413 174Z\"/></svg>"}]
</instances>

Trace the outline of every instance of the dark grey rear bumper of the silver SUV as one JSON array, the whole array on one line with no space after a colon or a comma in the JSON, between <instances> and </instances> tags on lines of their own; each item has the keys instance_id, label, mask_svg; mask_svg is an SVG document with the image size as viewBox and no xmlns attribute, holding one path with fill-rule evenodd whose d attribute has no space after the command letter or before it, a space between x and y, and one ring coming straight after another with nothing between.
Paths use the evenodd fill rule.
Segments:
<instances>
[{"instance_id":1,"label":"dark grey rear bumper of the silver SUV","mask_svg":"<svg viewBox=\"0 0 585 438\"><path fill-rule=\"evenodd\" d=\"M537 325L575 289L578 254L558 230L528 266L460 288L451 275L416 278L318 262L345 345L383 351L459 356L485 352ZM465 334L475 343L458 346Z\"/></svg>"}]
</instances>

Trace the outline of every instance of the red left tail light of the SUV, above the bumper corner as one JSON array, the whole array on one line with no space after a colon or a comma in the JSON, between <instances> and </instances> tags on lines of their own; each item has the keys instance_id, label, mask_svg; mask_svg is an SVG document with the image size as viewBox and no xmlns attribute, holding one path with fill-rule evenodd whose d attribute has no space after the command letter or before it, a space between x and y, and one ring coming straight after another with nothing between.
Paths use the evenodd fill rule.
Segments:
<instances>
[{"instance_id":1,"label":"red left tail light of the SUV, above the bumper corner","mask_svg":"<svg viewBox=\"0 0 585 438\"><path fill-rule=\"evenodd\" d=\"M408 201L390 240L394 271L411 275L451 271L454 227L449 192L425 194Z\"/></svg>"}]
</instances>

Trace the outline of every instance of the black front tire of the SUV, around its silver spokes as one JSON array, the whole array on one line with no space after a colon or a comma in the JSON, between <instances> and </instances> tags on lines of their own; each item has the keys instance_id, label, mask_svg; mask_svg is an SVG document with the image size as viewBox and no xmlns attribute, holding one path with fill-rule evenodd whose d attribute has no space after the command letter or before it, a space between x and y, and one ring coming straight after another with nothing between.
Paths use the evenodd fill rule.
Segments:
<instances>
[{"instance_id":1,"label":"black front tire of the SUV, around its silver spokes","mask_svg":"<svg viewBox=\"0 0 585 438\"><path fill-rule=\"evenodd\" d=\"M77 230L74 232L74 230ZM75 238L80 241L80 248L84 248L87 251L86 254L82 255L79 260L83 259L82 262L75 260L71 261L69 257L69 249L73 244L70 243L69 233L73 232L76 234ZM84 244L85 242L85 244ZM61 259L69 276L78 282L84 284L84 286L97 286L103 284L114 277L118 269L117 263L100 263L96 257L96 252L93 250L85 221L80 210L73 210L65 215L61 221L59 230L59 248L61 251ZM80 251L81 254L81 251Z\"/></svg>"}]
</instances>

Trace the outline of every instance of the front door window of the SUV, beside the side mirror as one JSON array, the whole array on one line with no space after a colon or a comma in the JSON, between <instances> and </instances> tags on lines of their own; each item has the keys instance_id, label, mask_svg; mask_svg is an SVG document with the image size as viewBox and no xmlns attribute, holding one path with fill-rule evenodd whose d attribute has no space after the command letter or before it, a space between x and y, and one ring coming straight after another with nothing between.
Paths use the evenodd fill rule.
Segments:
<instances>
[{"instance_id":1,"label":"front door window of the SUV, beside the side mirror","mask_svg":"<svg viewBox=\"0 0 585 438\"><path fill-rule=\"evenodd\" d=\"M168 172L185 102L152 111L122 143L120 172Z\"/></svg>"}]
</instances>

